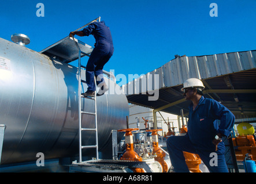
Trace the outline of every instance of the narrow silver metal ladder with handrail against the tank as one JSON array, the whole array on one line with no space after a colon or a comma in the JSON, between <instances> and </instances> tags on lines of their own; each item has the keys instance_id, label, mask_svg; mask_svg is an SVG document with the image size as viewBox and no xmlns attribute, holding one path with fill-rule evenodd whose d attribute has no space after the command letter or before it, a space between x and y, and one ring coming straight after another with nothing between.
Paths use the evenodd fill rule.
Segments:
<instances>
[{"instance_id":1,"label":"narrow silver metal ladder with handrail against the tank","mask_svg":"<svg viewBox=\"0 0 256 184\"><path fill-rule=\"evenodd\" d=\"M100 21L100 18L97 18L97 20ZM94 20L95 21L95 20ZM93 22L93 21L91 21ZM90 24L91 22L89 22L88 24ZM83 27L87 26L88 24L84 25ZM81 27L81 28L83 28ZM81 29L79 28L79 29ZM79 30L78 29L78 30ZM79 58L78 58L78 75L79 75L79 85L78 85L78 93L79 93L79 100L78 100L78 109L79 109L79 163L82 162L82 150L83 149L87 149L87 148L95 148L96 149L96 159L99 159L99 153L98 153L98 122L97 122L97 93L95 91L94 93L94 97L84 97L83 95L81 95L81 82L86 83L86 81L81 80L81 68L86 68L84 66L81 65L81 53L83 53L84 55L87 55L87 53L81 52L81 49L79 47L79 44L77 43L77 41L75 39L73 39L76 42L76 46L79 49ZM94 77L94 82L96 85L96 79ZM95 111L94 112L84 112L81 110L81 98L87 98L87 99L91 99L94 100L94 104L95 104ZM81 127L81 114L88 114L91 116L95 116L95 128L83 128ZM81 134L83 131L94 131L95 132L95 145L82 145L82 137Z\"/></svg>"}]
</instances>

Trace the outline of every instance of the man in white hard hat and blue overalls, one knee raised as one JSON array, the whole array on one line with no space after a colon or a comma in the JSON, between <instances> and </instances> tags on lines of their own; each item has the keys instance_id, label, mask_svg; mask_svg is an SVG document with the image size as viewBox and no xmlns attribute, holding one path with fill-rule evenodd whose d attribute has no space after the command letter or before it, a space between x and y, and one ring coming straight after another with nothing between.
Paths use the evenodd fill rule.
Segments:
<instances>
[{"instance_id":1,"label":"man in white hard hat and blue overalls, one knee raised","mask_svg":"<svg viewBox=\"0 0 256 184\"><path fill-rule=\"evenodd\" d=\"M191 78L184 82L181 89L185 99L192 103L187 134L171 136L167 140L170 161L176 173L190 172L183 151L198 154L210 172L228 172L222 137L229 136L235 116L214 99L203 97L204 88L202 81Z\"/></svg>"}]
</instances>

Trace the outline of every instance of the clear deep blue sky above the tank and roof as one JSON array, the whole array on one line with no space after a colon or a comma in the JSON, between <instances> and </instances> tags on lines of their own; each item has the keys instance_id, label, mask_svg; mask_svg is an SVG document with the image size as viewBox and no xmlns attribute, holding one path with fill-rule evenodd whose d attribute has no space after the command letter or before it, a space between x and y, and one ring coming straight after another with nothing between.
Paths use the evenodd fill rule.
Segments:
<instances>
[{"instance_id":1,"label":"clear deep blue sky above the tank and roof","mask_svg":"<svg viewBox=\"0 0 256 184\"><path fill-rule=\"evenodd\" d=\"M37 3L44 17L36 16ZM210 17L210 3L218 17ZM115 49L104 69L115 75L146 74L175 55L256 49L256 0L7 0L0 4L0 37L27 34L27 47L39 52L99 16ZM93 36L76 38L94 44Z\"/></svg>"}]
</instances>

